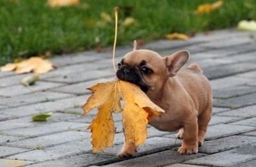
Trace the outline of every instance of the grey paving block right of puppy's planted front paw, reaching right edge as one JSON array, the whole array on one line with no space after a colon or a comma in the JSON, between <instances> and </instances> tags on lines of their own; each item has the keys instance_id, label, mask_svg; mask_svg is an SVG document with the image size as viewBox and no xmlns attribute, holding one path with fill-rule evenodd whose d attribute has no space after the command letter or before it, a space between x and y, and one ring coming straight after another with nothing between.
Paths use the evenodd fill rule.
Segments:
<instances>
[{"instance_id":1,"label":"grey paving block right of puppy's planted front paw, reaching right edge","mask_svg":"<svg viewBox=\"0 0 256 167\"><path fill-rule=\"evenodd\" d=\"M225 150L241 147L242 145L249 145L256 143L256 137L253 136L229 136L226 138L218 138L216 140L209 140L204 142L204 145L199 148L199 152L205 154L213 154Z\"/></svg>"}]
</instances>

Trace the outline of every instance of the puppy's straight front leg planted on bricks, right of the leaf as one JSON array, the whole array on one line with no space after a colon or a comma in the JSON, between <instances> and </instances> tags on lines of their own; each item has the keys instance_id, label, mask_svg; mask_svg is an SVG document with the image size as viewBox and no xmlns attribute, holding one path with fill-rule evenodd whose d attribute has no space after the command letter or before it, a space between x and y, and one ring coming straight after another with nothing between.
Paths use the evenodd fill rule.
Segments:
<instances>
[{"instance_id":1,"label":"puppy's straight front leg planted on bricks, right of the leaf","mask_svg":"<svg viewBox=\"0 0 256 167\"><path fill-rule=\"evenodd\" d=\"M195 154L198 152L198 123L197 118L190 118L183 122L184 134L180 154Z\"/></svg>"}]
</instances>

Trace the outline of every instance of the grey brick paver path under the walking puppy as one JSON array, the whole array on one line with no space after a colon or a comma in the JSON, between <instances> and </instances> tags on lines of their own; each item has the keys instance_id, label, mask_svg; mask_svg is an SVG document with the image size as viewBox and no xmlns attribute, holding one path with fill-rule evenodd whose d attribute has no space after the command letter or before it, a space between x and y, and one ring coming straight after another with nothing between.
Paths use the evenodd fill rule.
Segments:
<instances>
[{"instance_id":1,"label":"grey brick paver path under the walking puppy","mask_svg":"<svg viewBox=\"0 0 256 167\"><path fill-rule=\"evenodd\" d=\"M86 129L96 111L81 115L90 95L85 88L115 78L111 48L52 58L56 69L28 89L20 79L31 74L0 73L0 166L255 166L256 164L256 33L235 30L197 34L188 41L159 40L143 48L172 54L191 52L211 80L214 111L206 141L198 154L177 153L174 133L148 127L138 156L119 159L122 115L116 115L115 145L92 153ZM131 50L117 49L116 62ZM53 112L47 122L32 122L36 113Z\"/></svg>"}]
</instances>

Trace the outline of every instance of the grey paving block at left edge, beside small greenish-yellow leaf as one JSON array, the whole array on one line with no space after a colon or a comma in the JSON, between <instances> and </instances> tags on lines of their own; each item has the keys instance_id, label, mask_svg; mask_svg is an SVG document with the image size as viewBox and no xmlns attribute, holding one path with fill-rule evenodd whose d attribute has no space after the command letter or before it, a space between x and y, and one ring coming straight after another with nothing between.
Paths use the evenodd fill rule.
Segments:
<instances>
[{"instance_id":1,"label":"grey paving block at left edge, beside small greenish-yellow leaf","mask_svg":"<svg viewBox=\"0 0 256 167\"><path fill-rule=\"evenodd\" d=\"M33 74L15 74L12 76L6 76L0 78L0 87L9 87L10 85L20 84L20 80L26 76L32 76Z\"/></svg>"}]
</instances>

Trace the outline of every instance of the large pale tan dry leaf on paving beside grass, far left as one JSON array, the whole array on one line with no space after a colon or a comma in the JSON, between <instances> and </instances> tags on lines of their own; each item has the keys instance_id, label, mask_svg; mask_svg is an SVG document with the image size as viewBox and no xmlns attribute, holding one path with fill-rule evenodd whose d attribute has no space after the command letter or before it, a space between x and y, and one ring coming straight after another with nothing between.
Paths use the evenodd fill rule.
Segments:
<instances>
[{"instance_id":1,"label":"large pale tan dry leaf on paving beside grass, far left","mask_svg":"<svg viewBox=\"0 0 256 167\"><path fill-rule=\"evenodd\" d=\"M33 73L47 73L53 69L52 62L43 60L40 57L31 57L28 60L6 64L1 67L1 71L15 71L15 73L29 73L33 71Z\"/></svg>"}]
</instances>

